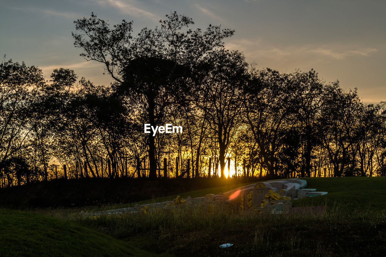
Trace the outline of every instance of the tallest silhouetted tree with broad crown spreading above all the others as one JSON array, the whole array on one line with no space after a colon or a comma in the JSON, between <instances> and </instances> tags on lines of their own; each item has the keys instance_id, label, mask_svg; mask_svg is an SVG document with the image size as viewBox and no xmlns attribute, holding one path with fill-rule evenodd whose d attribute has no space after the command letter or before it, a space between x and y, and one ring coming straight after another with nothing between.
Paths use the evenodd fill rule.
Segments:
<instances>
[{"instance_id":1,"label":"tallest silhouetted tree with broad crown spreading above all the others","mask_svg":"<svg viewBox=\"0 0 386 257\"><path fill-rule=\"evenodd\" d=\"M175 103L188 88L187 74L208 52L223 46L234 30L210 25L205 31L188 29L193 21L176 12L166 15L161 27L142 29L131 35L132 22L122 21L113 29L96 15L74 21L74 45L81 56L105 64L117 82L115 90L142 102L141 112L152 126L164 119L164 108ZM134 93L134 95L128 95ZM183 102L183 101L180 101ZM150 177L156 177L156 144L148 138Z\"/></svg>"}]
</instances>

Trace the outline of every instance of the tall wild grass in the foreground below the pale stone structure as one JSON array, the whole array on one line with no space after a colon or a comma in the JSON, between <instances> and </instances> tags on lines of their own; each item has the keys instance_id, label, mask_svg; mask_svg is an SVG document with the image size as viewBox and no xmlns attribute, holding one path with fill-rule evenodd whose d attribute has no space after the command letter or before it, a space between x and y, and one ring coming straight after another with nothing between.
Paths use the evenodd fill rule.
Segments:
<instances>
[{"instance_id":1,"label":"tall wild grass in the foreground below the pale stone structure","mask_svg":"<svg viewBox=\"0 0 386 257\"><path fill-rule=\"evenodd\" d=\"M139 246L146 249L183 256L244 256L254 252L266 256L334 256L342 250L350 252L347 256L376 254L378 248L371 245L384 242L379 235L386 235L385 211L353 210L339 202L317 214L264 214L207 203L119 215L62 215L114 237L142 240ZM222 243L234 246L220 249ZM347 243L350 247L345 246ZM361 243L367 246L361 248Z\"/></svg>"}]
</instances>

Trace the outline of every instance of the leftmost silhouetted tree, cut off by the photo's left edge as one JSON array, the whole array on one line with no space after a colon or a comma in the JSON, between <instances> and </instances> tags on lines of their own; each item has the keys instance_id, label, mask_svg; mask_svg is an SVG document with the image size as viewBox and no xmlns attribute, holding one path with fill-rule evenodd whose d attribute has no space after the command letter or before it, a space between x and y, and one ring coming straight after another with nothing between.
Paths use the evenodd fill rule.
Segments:
<instances>
[{"instance_id":1,"label":"leftmost silhouetted tree, cut off by the photo's left edge","mask_svg":"<svg viewBox=\"0 0 386 257\"><path fill-rule=\"evenodd\" d=\"M31 109L44 82L41 69L34 66L12 60L0 64L0 173L9 158L29 147Z\"/></svg>"}]
</instances>

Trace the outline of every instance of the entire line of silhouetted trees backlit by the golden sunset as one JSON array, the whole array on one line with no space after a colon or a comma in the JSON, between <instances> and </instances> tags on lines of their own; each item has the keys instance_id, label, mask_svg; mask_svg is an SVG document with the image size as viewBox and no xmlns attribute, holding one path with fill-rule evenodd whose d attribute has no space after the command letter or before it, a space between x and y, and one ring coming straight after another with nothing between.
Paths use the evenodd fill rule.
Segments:
<instances>
[{"instance_id":1,"label":"entire line of silhouetted trees backlit by the golden sunset","mask_svg":"<svg viewBox=\"0 0 386 257\"><path fill-rule=\"evenodd\" d=\"M367 105L318 73L256 69L225 49L234 30L172 12L133 35L91 14L74 46L113 79L0 64L1 187L58 178L385 176L386 105ZM183 127L144 133L144 124ZM230 158L230 159L229 159ZM211 163L209 163L211 162ZM189 167L189 168L188 168ZM210 168L208 168L210 167ZM145 169L147 168L147 169Z\"/></svg>"}]
</instances>

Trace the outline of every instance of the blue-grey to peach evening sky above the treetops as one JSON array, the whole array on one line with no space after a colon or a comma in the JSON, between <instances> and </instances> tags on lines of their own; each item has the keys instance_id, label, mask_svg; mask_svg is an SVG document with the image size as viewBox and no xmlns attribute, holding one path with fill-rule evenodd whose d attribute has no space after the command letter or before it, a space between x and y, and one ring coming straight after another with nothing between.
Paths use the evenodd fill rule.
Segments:
<instances>
[{"instance_id":1,"label":"blue-grey to peach evening sky above the treetops","mask_svg":"<svg viewBox=\"0 0 386 257\"><path fill-rule=\"evenodd\" d=\"M55 68L70 68L110 85L102 64L79 56L73 21L94 12L110 25L133 20L139 32L174 11L192 18L193 28L234 29L225 47L244 52L259 69L313 68L326 82L358 88L365 103L386 101L384 0L0 0L0 54L2 61L38 66L46 79Z\"/></svg>"}]
</instances>

